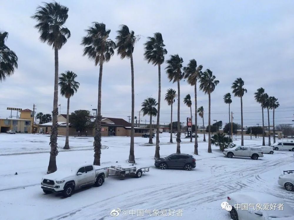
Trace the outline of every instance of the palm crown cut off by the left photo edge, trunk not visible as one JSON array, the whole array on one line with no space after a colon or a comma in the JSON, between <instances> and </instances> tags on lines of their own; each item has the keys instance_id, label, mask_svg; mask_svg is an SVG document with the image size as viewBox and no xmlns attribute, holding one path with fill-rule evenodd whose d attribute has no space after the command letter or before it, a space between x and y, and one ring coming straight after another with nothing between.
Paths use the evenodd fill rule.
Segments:
<instances>
[{"instance_id":1,"label":"palm crown cut off by the left photo edge, trunk not visible","mask_svg":"<svg viewBox=\"0 0 294 220\"><path fill-rule=\"evenodd\" d=\"M14 73L14 68L17 68L16 54L5 45L7 38L8 33L0 31L0 82L4 81L6 76L11 76Z\"/></svg>"}]
</instances>

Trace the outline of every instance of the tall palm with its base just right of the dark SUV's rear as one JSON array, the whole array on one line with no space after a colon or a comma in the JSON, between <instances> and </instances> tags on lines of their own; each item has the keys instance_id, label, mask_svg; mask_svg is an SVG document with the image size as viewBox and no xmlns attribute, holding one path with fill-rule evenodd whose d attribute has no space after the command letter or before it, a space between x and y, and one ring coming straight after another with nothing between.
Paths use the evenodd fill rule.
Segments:
<instances>
[{"instance_id":1,"label":"tall palm with its base just right of the dark SUV's rear","mask_svg":"<svg viewBox=\"0 0 294 220\"><path fill-rule=\"evenodd\" d=\"M187 79L187 82L194 86L194 95L195 95L195 144L194 144L194 154L198 155L198 128L197 128L197 80L202 74L202 65L197 67L197 62L195 59L189 61L188 66L184 67L184 78Z\"/></svg>"}]
</instances>

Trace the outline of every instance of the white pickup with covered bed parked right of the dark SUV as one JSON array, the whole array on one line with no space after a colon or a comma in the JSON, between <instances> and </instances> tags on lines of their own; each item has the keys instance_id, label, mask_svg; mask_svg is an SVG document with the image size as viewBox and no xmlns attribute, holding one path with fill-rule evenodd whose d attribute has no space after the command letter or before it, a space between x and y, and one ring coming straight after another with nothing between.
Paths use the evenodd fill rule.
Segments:
<instances>
[{"instance_id":1,"label":"white pickup with covered bed parked right of the dark SUV","mask_svg":"<svg viewBox=\"0 0 294 220\"><path fill-rule=\"evenodd\" d=\"M233 156L237 157L251 157L253 160L257 160L259 157L263 157L263 151L261 148L256 147L233 147L223 151L223 154L228 158Z\"/></svg>"}]
</instances>

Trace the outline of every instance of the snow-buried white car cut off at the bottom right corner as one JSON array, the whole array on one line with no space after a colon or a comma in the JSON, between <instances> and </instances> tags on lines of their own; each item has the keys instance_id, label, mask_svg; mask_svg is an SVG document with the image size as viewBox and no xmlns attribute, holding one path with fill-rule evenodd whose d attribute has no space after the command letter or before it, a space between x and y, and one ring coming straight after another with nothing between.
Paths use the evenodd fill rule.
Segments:
<instances>
[{"instance_id":1,"label":"snow-buried white car cut off at the bottom right corner","mask_svg":"<svg viewBox=\"0 0 294 220\"><path fill-rule=\"evenodd\" d=\"M283 200L270 194L261 192L235 192L229 194L227 202L232 206L229 211L233 220L292 220L294 210ZM248 204L248 208L242 209L237 205ZM253 204L249 206L249 204ZM257 210L257 204L262 206ZM264 204L275 204L277 207L272 210L264 210ZM278 204L283 204L283 210L278 209ZM269 208L270 209L270 208Z\"/></svg>"}]
</instances>

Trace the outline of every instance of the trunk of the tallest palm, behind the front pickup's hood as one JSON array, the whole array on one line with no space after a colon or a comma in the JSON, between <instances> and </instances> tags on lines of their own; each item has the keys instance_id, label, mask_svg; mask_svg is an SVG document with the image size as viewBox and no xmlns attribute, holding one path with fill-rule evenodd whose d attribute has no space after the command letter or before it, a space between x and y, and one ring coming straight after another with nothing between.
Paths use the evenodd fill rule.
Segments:
<instances>
[{"instance_id":1,"label":"trunk of the tallest palm, behind the front pickup's hood","mask_svg":"<svg viewBox=\"0 0 294 220\"><path fill-rule=\"evenodd\" d=\"M54 45L58 45L57 40L55 40ZM56 156L58 154L57 150L57 115L58 115L58 48L54 47L54 59L55 59L55 74L54 74L54 98L53 98L53 111L52 111L52 130L50 136L50 159L47 169L47 174L53 173L57 170L56 166Z\"/></svg>"}]
</instances>

